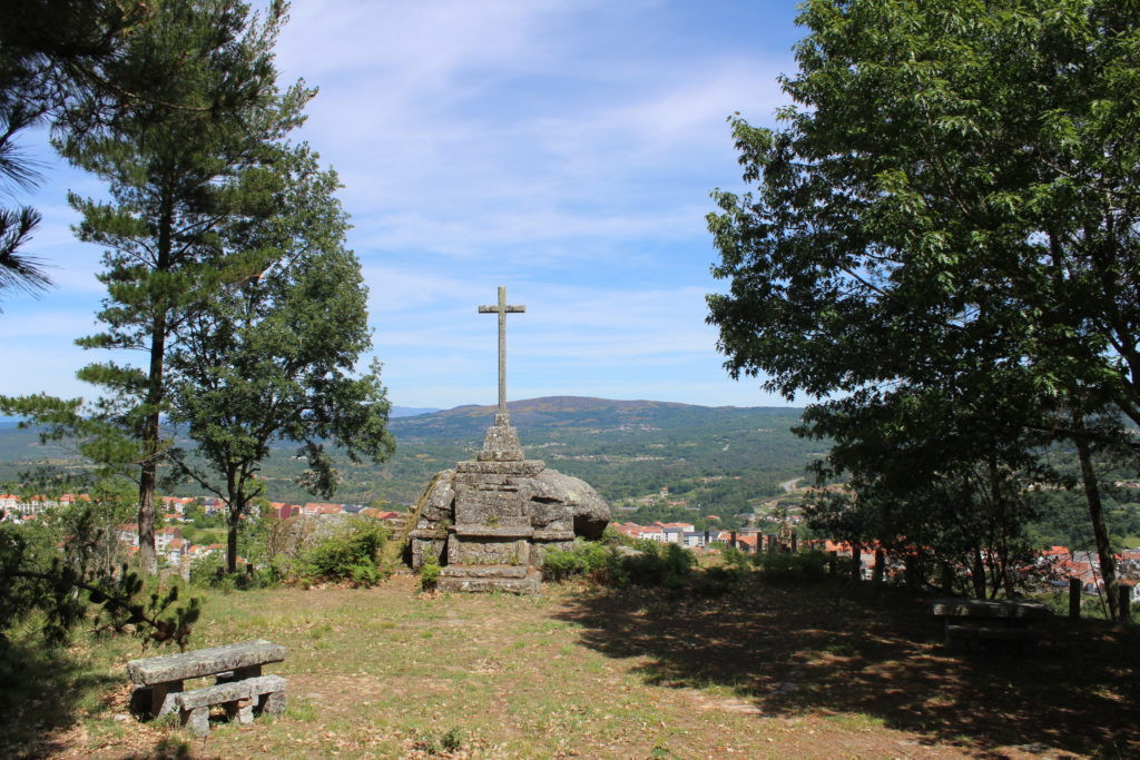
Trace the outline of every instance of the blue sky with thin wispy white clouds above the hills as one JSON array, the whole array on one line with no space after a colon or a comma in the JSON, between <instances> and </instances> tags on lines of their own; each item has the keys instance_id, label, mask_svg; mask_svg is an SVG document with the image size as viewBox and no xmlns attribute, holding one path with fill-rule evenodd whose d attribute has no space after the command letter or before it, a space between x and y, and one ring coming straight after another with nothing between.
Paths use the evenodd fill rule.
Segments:
<instances>
[{"instance_id":1,"label":"blue sky with thin wispy white clouds above the hills","mask_svg":"<svg viewBox=\"0 0 1140 760\"><path fill-rule=\"evenodd\" d=\"M495 403L507 286L510 398L592 395L783 406L731 381L705 324L723 289L705 214L740 189L725 119L772 124L801 35L790 0L299 0L282 81L320 92L298 134L340 173L369 287L374 351L400 406ZM5 293L0 393L92 395L98 246L79 243L46 134L27 253L57 287Z\"/></svg>"}]
</instances>

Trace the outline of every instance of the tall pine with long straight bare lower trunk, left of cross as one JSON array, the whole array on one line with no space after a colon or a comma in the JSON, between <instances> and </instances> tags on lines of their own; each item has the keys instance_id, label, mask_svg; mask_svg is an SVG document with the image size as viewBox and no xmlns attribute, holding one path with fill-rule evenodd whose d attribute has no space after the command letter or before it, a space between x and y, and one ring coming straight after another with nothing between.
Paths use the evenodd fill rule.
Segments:
<instances>
[{"instance_id":1,"label":"tall pine with long straight bare lower trunk, left of cross","mask_svg":"<svg viewBox=\"0 0 1140 760\"><path fill-rule=\"evenodd\" d=\"M283 21L280 3L263 18L234 0L160 5L103 68L119 91L145 97L106 122L76 107L72 116L87 129L57 142L109 190L108 201L71 197L80 239L105 247L107 286L98 313L106 329L79 344L146 357L141 367L96 362L79 376L103 387L98 416L140 443L140 558L150 572L154 491L170 448L160 430L166 353L219 288L267 265L268 252L234 253L219 232L264 215L276 189L269 166L312 96L300 83L277 88L272 46Z\"/></svg>"}]
</instances>

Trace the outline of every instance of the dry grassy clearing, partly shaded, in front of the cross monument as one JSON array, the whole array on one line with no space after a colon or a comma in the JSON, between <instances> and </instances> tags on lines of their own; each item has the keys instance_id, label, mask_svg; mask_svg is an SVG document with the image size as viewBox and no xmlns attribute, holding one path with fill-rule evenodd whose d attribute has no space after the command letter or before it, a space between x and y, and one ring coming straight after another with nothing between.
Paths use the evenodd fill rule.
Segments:
<instances>
[{"instance_id":1,"label":"dry grassy clearing, partly shaded, in front of the cross monument","mask_svg":"<svg viewBox=\"0 0 1140 760\"><path fill-rule=\"evenodd\" d=\"M1134 632L1058 620L1036 653L967 655L944 649L921 603L841 582L520 598L424 596L402 575L215 595L192 645L258 637L288 651L270 668L288 679L286 713L205 741L128 714L135 639L24 652L25 683L42 683L21 692L34 706L3 724L0 755L1140 753Z\"/></svg>"}]
</instances>

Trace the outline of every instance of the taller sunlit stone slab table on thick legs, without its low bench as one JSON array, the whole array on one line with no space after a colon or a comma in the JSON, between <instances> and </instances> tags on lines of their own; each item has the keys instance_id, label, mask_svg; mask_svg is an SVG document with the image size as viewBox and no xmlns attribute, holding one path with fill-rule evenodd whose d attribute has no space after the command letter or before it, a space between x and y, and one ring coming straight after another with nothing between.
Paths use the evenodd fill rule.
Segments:
<instances>
[{"instance_id":1,"label":"taller sunlit stone slab table on thick legs, without its low bench","mask_svg":"<svg viewBox=\"0 0 1140 760\"><path fill-rule=\"evenodd\" d=\"M140 687L137 693L149 692L149 710L146 712L157 718L179 709L176 698L181 694L188 694L182 690L182 683L189 678L214 676L219 685L246 681L261 677L262 665L283 660L285 660L285 647L264 639L255 639L194 652L131 660L127 663L127 673ZM284 686L280 690L284 690Z\"/></svg>"}]
</instances>

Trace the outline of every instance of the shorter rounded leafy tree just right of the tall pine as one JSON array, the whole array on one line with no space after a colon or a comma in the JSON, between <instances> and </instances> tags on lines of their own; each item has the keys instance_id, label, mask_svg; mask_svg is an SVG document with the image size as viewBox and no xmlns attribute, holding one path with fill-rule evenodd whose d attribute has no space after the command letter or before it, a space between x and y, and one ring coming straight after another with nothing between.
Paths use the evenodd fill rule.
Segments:
<instances>
[{"instance_id":1,"label":"shorter rounded leafy tree just right of the tall pine","mask_svg":"<svg viewBox=\"0 0 1140 760\"><path fill-rule=\"evenodd\" d=\"M210 471L176 452L177 473L228 504L226 565L237 569L237 538L262 495L262 460L276 442L300 444L302 479L328 497L336 471L326 442L352 461L380 463L394 444L378 365L355 376L372 344L367 288L344 247L348 228L334 197L336 175L307 148L276 171L287 174L274 213L221 231L228 250L272 251L258 277L223 288L189 317L170 353L171 419L185 424Z\"/></svg>"}]
</instances>

